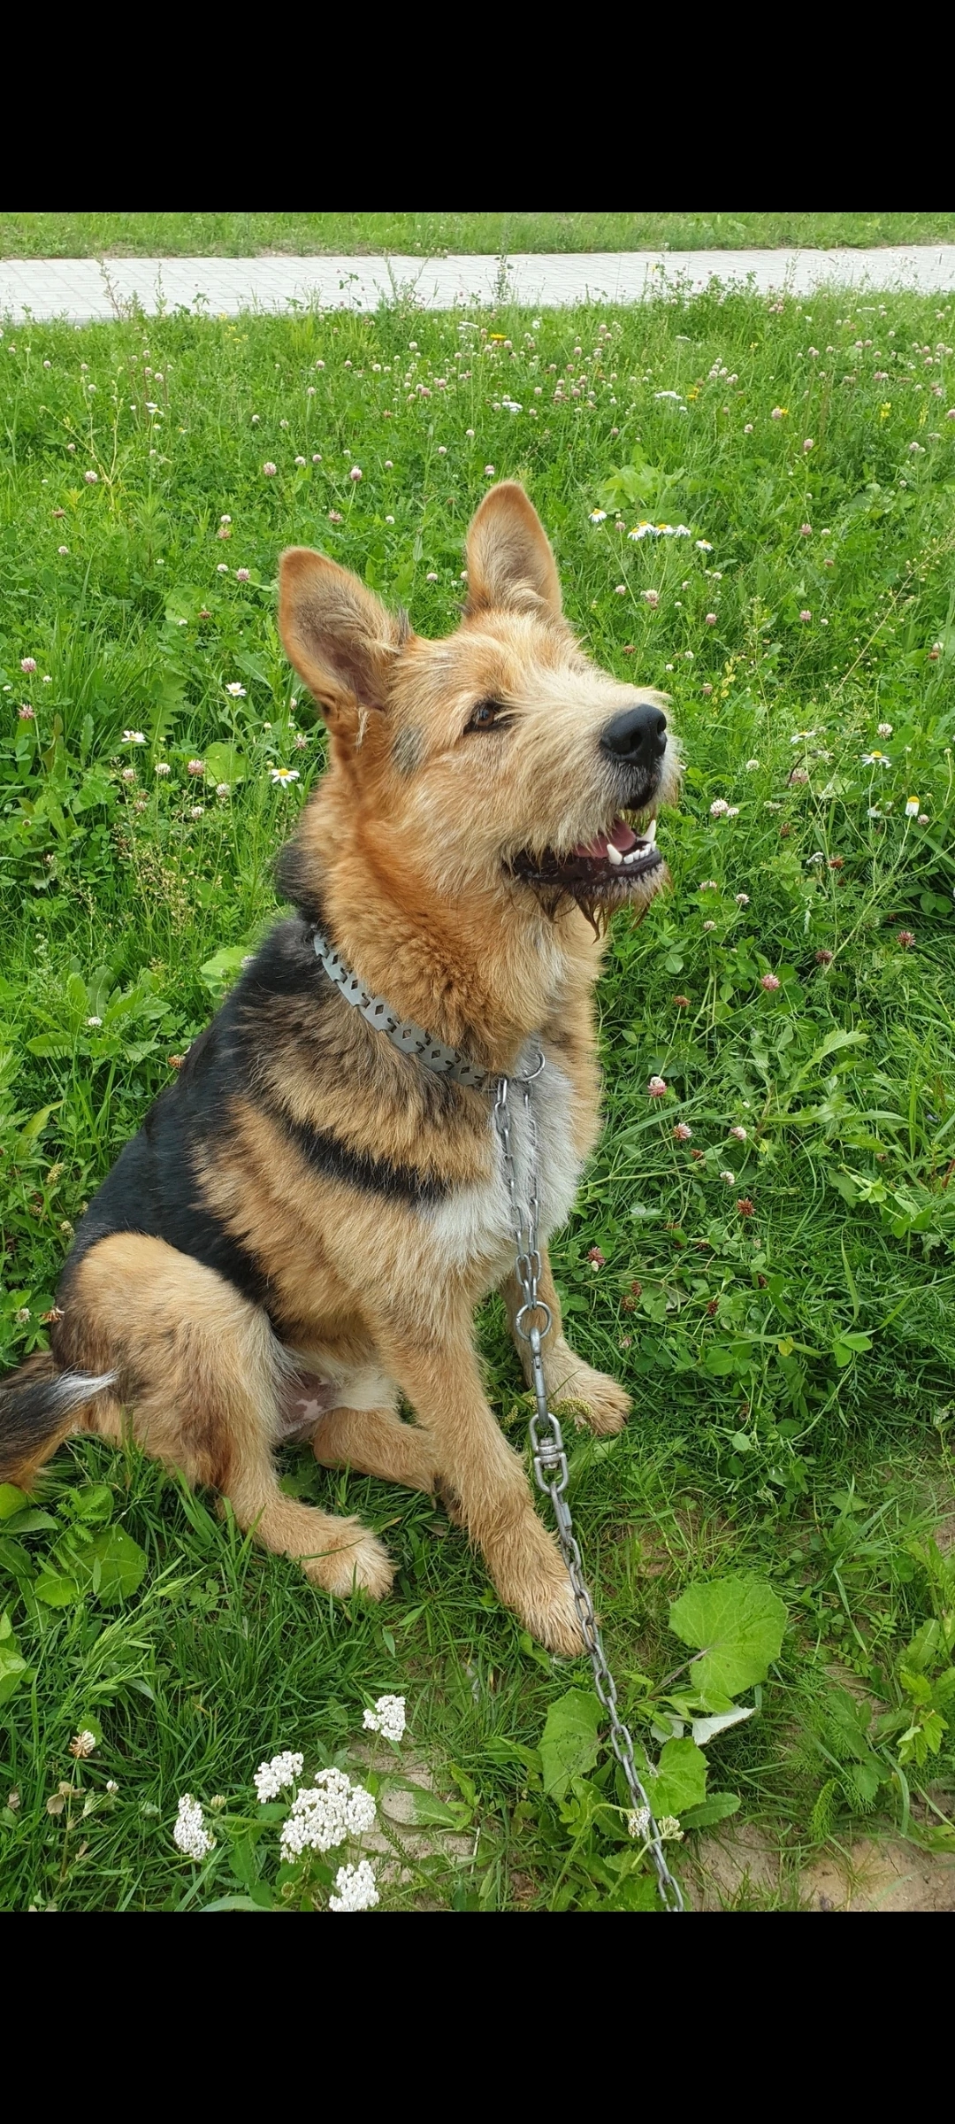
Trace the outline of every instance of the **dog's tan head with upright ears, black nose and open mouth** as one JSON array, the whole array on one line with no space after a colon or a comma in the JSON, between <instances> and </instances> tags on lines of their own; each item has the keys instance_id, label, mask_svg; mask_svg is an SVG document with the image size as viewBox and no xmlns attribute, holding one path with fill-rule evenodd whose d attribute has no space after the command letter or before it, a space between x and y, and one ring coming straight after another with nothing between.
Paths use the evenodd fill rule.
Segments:
<instances>
[{"instance_id":1,"label":"dog's tan head with upright ears, black nose and open mouth","mask_svg":"<svg viewBox=\"0 0 955 2124\"><path fill-rule=\"evenodd\" d=\"M666 879L656 811L679 782L664 697L584 656L514 482L473 516L467 590L456 633L424 641L333 561L282 554L282 641L331 739L312 847L348 843L431 905L643 909Z\"/></svg>"}]
</instances>

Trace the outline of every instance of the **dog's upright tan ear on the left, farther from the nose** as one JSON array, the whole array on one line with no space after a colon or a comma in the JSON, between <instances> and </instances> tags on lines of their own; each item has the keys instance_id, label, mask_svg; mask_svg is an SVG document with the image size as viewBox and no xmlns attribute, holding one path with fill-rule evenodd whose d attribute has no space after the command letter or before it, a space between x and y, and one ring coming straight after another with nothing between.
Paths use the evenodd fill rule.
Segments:
<instances>
[{"instance_id":1,"label":"dog's upright tan ear on the left, farther from the nose","mask_svg":"<svg viewBox=\"0 0 955 2124\"><path fill-rule=\"evenodd\" d=\"M329 722L386 705L407 620L393 618L346 567L310 546L289 546L278 563L278 631Z\"/></svg>"}]
</instances>

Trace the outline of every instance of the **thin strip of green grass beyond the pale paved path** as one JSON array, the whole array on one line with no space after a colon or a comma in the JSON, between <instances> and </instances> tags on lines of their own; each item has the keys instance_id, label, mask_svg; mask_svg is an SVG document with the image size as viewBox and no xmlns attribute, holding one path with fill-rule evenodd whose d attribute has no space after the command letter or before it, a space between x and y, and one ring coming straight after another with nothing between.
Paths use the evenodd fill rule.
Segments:
<instances>
[{"instance_id":1,"label":"thin strip of green grass beyond the pale paved path","mask_svg":"<svg viewBox=\"0 0 955 2124\"><path fill-rule=\"evenodd\" d=\"M951 244L955 215L0 215L0 257Z\"/></svg>"}]
</instances>

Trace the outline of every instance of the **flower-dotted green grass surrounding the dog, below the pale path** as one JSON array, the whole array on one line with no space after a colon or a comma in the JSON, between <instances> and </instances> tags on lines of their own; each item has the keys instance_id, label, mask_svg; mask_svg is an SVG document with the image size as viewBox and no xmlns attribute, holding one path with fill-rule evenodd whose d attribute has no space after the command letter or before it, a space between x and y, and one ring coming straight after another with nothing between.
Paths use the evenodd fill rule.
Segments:
<instances>
[{"instance_id":1,"label":"flower-dotted green grass surrounding the dog, below the pale path","mask_svg":"<svg viewBox=\"0 0 955 2124\"><path fill-rule=\"evenodd\" d=\"M953 312L847 304L713 289L539 325L168 316L0 346L4 1361L42 1342L72 1223L274 918L323 756L276 637L280 546L320 544L446 631L486 467L520 476L588 648L673 695L688 756L675 890L613 930L607 1130L554 1245L569 1332L635 1395L620 1440L573 1444L573 1510L652 1752L685 1657L668 1601L739 1570L783 1597L758 1716L709 1754L792 1878L866 1825L951 1848L953 1791ZM692 537L630 542L641 518ZM497 1302L482 1347L509 1421ZM429 1500L293 1453L286 1478L384 1531L384 1608L316 1597L134 1449L64 1449L38 1519L8 1521L28 1672L4 1684L0 1640L4 1907L242 1895L274 1873L236 1829L259 1759L323 1761L388 1689L467 1846L386 1901L603 1907L609 1771L558 1805L526 1752L586 1669L520 1635ZM843 1680L883 1718L868 1740ZM199 1873L172 1846L183 1791L231 1810Z\"/></svg>"}]
</instances>

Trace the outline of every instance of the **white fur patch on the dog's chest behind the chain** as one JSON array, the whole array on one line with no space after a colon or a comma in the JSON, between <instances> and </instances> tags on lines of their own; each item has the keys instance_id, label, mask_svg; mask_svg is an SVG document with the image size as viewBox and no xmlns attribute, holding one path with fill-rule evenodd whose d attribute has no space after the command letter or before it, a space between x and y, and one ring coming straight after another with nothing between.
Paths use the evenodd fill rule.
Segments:
<instances>
[{"instance_id":1,"label":"white fur patch on the dog's chest behind the chain","mask_svg":"<svg viewBox=\"0 0 955 2124\"><path fill-rule=\"evenodd\" d=\"M539 1236L548 1240L571 1213L581 1160L573 1147L573 1085L550 1060L545 1060L541 1075L531 1085L533 1126L528 1126L520 1077L531 1073L535 1062L537 1047L528 1043L509 1079L507 1107L518 1198L526 1200L528 1175L535 1168ZM484 1268L486 1287L490 1289L507 1274L514 1262L514 1219L503 1149L492 1113L488 1113L488 1179L454 1187L446 1202L427 1211L427 1223L439 1240L446 1260L463 1268L467 1264Z\"/></svg>"}]
</instances>

